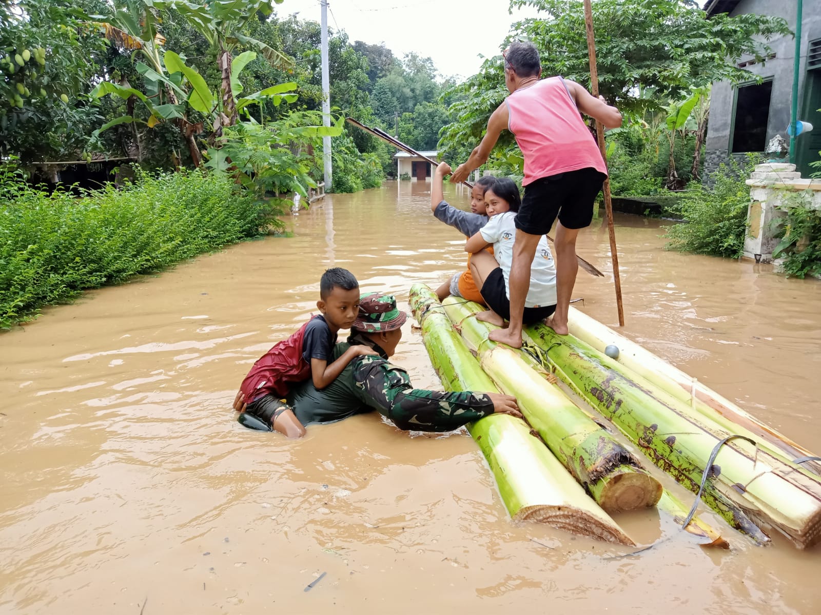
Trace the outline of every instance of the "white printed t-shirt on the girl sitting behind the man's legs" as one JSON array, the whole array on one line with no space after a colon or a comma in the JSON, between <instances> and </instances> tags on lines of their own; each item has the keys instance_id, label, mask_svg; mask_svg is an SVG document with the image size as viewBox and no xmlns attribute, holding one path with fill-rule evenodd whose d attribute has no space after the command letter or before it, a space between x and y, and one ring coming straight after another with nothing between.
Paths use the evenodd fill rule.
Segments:
<instances>
[{"instance_id":1,"label":"white printed t-shirt on the girl sitting behind the man's legs","mask_svg":"<svg viewBox=\"0 0 821 615\"><path fill-rule=\"evenodd\" d=\"M513 262L513 240L516 238L516 212L498 213L479 229L488 244L493 244L493 256L502 267L505 278L505 294L510 299L510 275ZM539 239L536 256L530 266L530 289L525 298L525 307L556 305L556 266L550 253L548 240L544 235Z\"/></svg>"}]
</instances>

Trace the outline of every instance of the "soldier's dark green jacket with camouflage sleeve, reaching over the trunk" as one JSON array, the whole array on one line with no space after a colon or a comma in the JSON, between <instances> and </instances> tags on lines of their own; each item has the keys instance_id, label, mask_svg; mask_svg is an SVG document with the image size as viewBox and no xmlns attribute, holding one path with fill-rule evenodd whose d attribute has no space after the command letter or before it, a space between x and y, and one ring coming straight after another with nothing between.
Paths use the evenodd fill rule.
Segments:
<instances>
[{"instance_id":1,"label":"soldier's dark green jacket with camouflage sleeve, reaching over the trunk","mask_svg":"<svg viewBox=\"0 0 821 615\"><path fill-rule=\"evenodd\" d=\"M300 383L288 401L303 425L376 410L403 430L451 431L493 413L485 394L414 389L407 371L389 362L382 348L364 336L352 341L374 347L379 356L354 358L325 389L315 389L310 380ZM337 344L335 356L348 345Z\"/></svg>"}]
</instances>

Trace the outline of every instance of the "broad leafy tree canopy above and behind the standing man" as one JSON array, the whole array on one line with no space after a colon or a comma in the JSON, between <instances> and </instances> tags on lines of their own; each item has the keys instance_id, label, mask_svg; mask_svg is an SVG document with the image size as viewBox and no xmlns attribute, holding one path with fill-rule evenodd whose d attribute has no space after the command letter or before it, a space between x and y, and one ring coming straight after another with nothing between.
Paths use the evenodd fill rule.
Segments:
<instances>
[{"instance_id":1,"label":"broad leafy tree canopy above and behind the standing man","mask_svg":"<svg viewBox=\"0 0 821 615\"><path fill-rule=\"evenodd\" d=\"M532 41L544 75L562 75L589 86L589 62L581 0L511 0L511 7L535 7L544 19L519 21L509 39ZM713 16L691 0L598 0L593 2L599 91L628 116L658 112L693 87L713 81L749 80L736 66L742 55L763 61L766 43L791 34L781 18L761 15ZM508 39L508 40L509 40ZM505 43L502 43L504 46ZM647 93L654 93L648 96ZM502 57L489 58L479 74L452 89L466 94L451 112L458 120L444 134L449 147L478 139L490 113L507 95ZM509 144L502 139L502 144Z\"/></svg>"}]
</instances>

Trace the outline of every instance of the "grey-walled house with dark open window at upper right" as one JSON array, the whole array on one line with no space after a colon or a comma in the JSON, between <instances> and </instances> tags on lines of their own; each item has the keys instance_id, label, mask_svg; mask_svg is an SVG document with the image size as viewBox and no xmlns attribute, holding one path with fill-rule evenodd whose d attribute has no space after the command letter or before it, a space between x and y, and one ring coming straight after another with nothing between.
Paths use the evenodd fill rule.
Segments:
<instances>
[{"instance_id":1,"label":"grey-walled house with dark open window at upper right","mask_svg":"<svg viewBox=\"0 0 821 615\"><path fill-rule=\"evenodd\" d=\"M796 30L796 0L708 0L707 16L756 13L783 17ZM798 117L814 130L796 139L796 171L808 177L810 162L819 160L821 150L821 0L804 2L801 19L801 52L798 79ZM704 153L704 176L716 171L728 157L748 152L764 153L777 134L785 139L790 123L793 59L796 41L790 36L771 39L773 54L766 62L741 58L738 66L750 71L750 82L736 86L713 84L710 119ZM759 75L762 82L754 82Z\"/></svg>"}]
</instances>

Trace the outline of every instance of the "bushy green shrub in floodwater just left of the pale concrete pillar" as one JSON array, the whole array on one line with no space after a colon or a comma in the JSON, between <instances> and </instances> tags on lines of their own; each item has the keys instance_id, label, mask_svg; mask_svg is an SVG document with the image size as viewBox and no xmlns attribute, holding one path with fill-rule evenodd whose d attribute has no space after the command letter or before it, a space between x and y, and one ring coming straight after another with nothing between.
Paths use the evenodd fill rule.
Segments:
<instances>
[{"instance_id":1,"label":"bushy green shrub in floodwater just left of the pale concrete pillar","mask_svg":"<svg viewBox=\"0 0 821 615\"><path fill-rule=\"evenodd\" d=\"M740 258L750 205L750 187L744 181L754 166L752 159L744 164L731 160L711 175L712 189L690 183L690 192L673 208L685 222L667 230L667 249Z\"/></svg>"}]
</instances>

